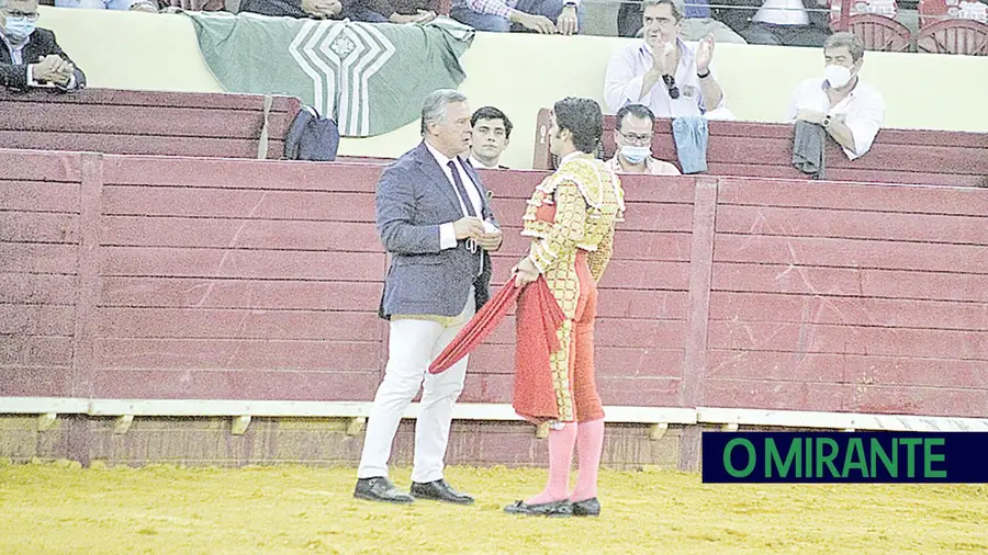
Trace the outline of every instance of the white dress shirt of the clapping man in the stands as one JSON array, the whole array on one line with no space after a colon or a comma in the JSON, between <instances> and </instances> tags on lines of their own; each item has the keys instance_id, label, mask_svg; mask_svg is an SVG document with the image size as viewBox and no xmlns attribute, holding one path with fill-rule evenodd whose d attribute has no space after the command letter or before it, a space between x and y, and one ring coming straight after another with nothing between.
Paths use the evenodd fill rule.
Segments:
<instances>
[{"instance_id":1,"label":"white dress shirt of the clapping man in the stands","mask_svg":"<svg viewBox=\"0 0 988 555\"><path fill-rule=\"evenodd\" d=\"M673 100L663 80L659 80L652 90L641 95L644 75L652 68L652 47L643 41L620 47L610 57L607 73L604 78L604 101L611 112L617 112L626 104L644 104L655 117L678 117L683 115L703 115L704 95L696 76L695 50L683 41L680 46L680 65L676 67L676 87L680 98ZM712 65L710 71L712 71ZM716 109L725 106L725 98Z\"/></svg>"}]
</instances>

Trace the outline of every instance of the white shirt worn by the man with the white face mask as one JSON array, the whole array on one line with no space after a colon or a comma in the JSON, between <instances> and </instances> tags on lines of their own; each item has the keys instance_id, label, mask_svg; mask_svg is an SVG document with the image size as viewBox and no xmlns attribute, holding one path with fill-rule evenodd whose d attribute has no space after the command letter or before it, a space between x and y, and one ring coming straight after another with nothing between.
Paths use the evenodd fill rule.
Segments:
<instances>
[{"instance_id":1,"label":"white shirt worn by the man with the white face mask","mask_svg":"<svg viewBox=\"0 0 988 555\"><path fill-rule=\"evenodd\" d=\"M796 121L796 112L800 110L815 110L830 115L843 114L844 125L854 137L854 150L842 148L849 159L858 158L872 148L875 135L885 122L885 99L873 87L858 79L851 93L831 106L823 81L819 77L807 79L796 88L789 106L789 121Z\"/></svg>"}]
</instances>

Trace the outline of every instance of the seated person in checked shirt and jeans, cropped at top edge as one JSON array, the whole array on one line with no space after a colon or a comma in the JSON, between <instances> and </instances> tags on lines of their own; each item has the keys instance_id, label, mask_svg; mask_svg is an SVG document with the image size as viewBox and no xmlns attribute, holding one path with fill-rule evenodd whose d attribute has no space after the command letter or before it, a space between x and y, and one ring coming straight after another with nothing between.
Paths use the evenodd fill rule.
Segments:
<instances>
[{"instance_id":1,"label":"seated person in checked shirt and jeans, cropped at top edge","mask_svg":"<svg viewBox=\"0 0 988 555\"><path fill-rule=\"evenodd\" d=\"M575 35L577 9L577 0L452 0L449 16L478 31Z\"/></svg>"}]
</instances>

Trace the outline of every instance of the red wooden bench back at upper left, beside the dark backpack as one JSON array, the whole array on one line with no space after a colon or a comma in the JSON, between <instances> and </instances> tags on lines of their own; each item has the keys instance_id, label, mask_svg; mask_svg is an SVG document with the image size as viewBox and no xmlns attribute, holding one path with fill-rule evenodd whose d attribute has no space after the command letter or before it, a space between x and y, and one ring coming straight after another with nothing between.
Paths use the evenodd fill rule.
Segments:
<instances>
[{"instance_id":1,"label":"red wooden bench back at upper left, beside the dark backpack","mask_svg":"<svg viewBox=\"0 0 988 555\"><path fill-rule=\"evenodd\" d=\"M300 105L273 97L267 158L283 157ZM256 158L263 106L259 94L0 91L0 148Z\"/></svg>"}]
</instances>

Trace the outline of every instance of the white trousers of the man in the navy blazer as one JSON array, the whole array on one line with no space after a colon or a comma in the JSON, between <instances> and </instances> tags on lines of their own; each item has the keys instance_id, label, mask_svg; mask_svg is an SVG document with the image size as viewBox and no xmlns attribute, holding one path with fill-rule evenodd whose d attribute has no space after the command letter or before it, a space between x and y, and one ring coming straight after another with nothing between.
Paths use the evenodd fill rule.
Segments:
<instances>
[{"instance_id":1,"label":"white trousers of the man in the navy blazer","mask_svg":"<svg viewBox=\"0 0 988 555\"><path fill-rule=\"evenodd\" d=\"M467 306L449 325L413 319L391 321L388 365L368 418L363 453L357 469L358 478L388 476L388 460L391 458L394 434L402 415L422 387L420 411L415 422L412 482L442 479L442 460L449 442L452 409L463 390L469 356L463 356L439 374L429 374L428 369L433 360L473 317L475 305L471 287Z\"/></svg>"}]
</instances>

